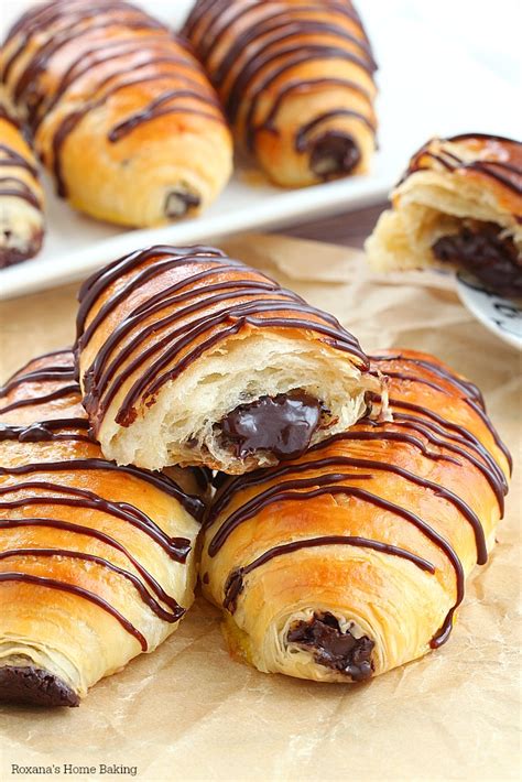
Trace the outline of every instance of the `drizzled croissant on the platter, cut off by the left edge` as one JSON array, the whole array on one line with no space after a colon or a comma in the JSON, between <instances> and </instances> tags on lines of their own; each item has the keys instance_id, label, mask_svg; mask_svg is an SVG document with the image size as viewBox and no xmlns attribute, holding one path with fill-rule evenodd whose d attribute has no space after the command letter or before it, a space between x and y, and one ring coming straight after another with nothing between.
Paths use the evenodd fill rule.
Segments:
<instances>
[{"instance_id":1,"label":"drizzled croissant on the platter, cut off by the left edge","mask_svg":"<svg viewBox=\"0 0 522 782\"><path fill-rule=\"evenodd\" d=\"M44 235L43 205L33 150L0 88L0 269L39 252Z\"/></svg>"}]
</instances>

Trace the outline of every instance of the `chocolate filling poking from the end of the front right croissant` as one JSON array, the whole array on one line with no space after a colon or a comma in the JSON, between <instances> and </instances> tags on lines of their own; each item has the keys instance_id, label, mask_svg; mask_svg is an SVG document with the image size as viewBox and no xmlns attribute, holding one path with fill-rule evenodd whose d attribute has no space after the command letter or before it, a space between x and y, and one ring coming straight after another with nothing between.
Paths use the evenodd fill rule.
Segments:
<instances>
[{"instance_id":1,"label":"chocolate filling poking from the end of the front right croissant","mask_svg":"<svg viewBox=\"0 0 522 782\"><path fill-rule=\"evenodd\" d=\"M370 678L374 642L367 636L355 638L342 632L333 613L314 613L309 621L297 621L286 636L289 643L309 648L319 665L350 676L354 682Z\"/></svg>"}]
</instances>

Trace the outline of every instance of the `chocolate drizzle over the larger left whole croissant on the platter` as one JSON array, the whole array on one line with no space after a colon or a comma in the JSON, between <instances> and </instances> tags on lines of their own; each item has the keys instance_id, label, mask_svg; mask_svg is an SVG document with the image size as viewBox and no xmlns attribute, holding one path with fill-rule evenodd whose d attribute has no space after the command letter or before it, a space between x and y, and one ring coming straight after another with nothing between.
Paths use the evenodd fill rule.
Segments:
<instances>
[{"instance_id":1,"label":"chocolate drizzle over the larger left whole croissant on the platter","mask_svg":"<svg viewBox=\"0 0 522 782\"><path fill-rule=\"evenodd\" d=\"M26 47L33 43L34 54L25 62ZM70 61L72 46L77 56ZM204 72L185 42L128 2L47 2L19 20L8 35L6 51L3 80L25 111L36 141L44 120L53 121L54 112L59 112L52 161L46 162L53 167L61 196L67 194L62 167L64 145L87 115L109 100L118 100L121 90L142 87L132 94L132 113L109 129L110 143L167 115L203 116L224 122ZM21 59L23 64L17 67ZM53 74L51 80L45 79L46 72ZM75 109L64 113L59 109L69 94L74 95L70 100ZM81 100L79 95L84 96Z\"/></svg>"}]
</instances>

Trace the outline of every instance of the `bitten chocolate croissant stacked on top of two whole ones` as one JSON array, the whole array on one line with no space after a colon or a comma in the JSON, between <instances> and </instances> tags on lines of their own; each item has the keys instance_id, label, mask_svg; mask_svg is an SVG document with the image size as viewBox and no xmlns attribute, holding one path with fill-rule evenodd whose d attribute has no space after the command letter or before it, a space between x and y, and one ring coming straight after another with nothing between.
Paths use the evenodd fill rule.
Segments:
<instances>
[{"instance_id":1,"label":"bitten chocolate croissant stacked on top of two whole ones","mask_svg":"<svg viewBox=\"0 0 522 782\"><path fill-rule=\"evenodd\" d=\"M336 318L214 248L133 252L79 301L84 405L118 464L273 465L349 427L381 388Z\"/></svg>"}]
</instances>

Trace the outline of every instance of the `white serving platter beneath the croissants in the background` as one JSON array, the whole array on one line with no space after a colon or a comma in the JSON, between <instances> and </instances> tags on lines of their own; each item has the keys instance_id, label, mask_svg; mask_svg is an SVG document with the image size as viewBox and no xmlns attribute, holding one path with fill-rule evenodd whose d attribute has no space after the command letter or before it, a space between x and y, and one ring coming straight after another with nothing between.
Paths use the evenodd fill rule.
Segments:
<instances>
[{"instance_id":1,"label":"white serving platter beneath the croissants in the background","mask_svg":"<svg viewBox=\"0 0 522 782\"><path fill-rule=\"evenodd\" d=\"M177 26L191 0L134 0ZM3 34L30 0L2 0ZM202 216L165 228L122 230L75 213L46 182L47 235L40 256L0 271L0 298L85 278L119 256L154 243L218 240L244 230L309 221L385 198L411 153L433 134L478 130L516 135L516 90L467 54L463 42L443 40L404 0L361 2L380 70L379 143L372 171L304 189L283 191L239 169Z\"/></svg>"}]
</instances>

